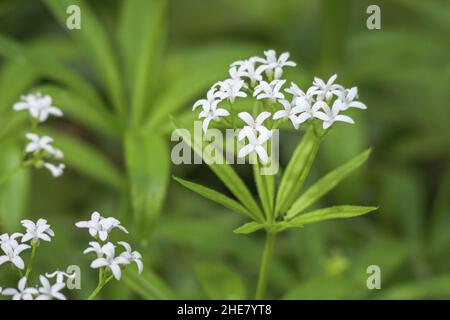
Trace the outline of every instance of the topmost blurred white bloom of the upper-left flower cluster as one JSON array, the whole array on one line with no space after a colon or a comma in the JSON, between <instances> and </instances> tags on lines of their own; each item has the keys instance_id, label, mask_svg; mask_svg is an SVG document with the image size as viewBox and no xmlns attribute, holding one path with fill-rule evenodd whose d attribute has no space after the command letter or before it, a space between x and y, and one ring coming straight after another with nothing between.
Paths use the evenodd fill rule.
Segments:
<instances>
[{"instance_id":1,"label":"topmost blurred white bloom of the upper-left flower cluster","mask_svg":"<svg viewBox=\"0 0 450 320\"><path fill-rule=\"evenodd\" d=\"M52 106L52 98L50 96L43 96L40 93L30 94L21 97L21 102L14 104L13 109L16 111L28 110L33 118L44 122L49 115L61 117L62 111Z\"/></svg>"}]
</instances>

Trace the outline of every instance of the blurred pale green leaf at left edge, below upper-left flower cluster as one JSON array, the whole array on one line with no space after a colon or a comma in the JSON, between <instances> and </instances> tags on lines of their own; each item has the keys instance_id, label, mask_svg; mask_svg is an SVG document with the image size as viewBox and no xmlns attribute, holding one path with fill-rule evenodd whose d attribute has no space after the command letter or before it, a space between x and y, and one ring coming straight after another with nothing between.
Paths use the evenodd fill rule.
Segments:
<instances>
[{"instance_id":1,"label":"blurred pale green leaf at left edge, below upper-left flower cluster","mask_svg":"<svg viewBox=\"0 0 450 320\"><path fill-rule=\"evenodd\" d=\"M26 212L30 172L16 170L21 162L21 150L12 141L0 144L0 154L0 178L7 177L0 182L0 228L10 232L17 228Z\"/></svg>"}]
</instances>

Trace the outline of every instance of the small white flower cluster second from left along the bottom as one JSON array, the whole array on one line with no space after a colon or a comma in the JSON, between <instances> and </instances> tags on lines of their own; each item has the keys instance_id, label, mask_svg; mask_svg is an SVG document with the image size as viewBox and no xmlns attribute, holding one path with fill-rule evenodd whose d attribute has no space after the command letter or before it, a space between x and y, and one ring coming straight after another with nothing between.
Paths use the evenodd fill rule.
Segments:
<instances>
[{"instance_id":1,"label":"small white flower cluster second from left along the bottom","mask_svg":"<svg viewBox=\"0 0 450 320\"><path fill-rule=\"evenodd\" d=\"M94 212L91 215L91 220L80 221L75 224L78 228L87 228L89 234L97 241L89 242L89 247L84 250L83 253L95 253L96 259L92 261L91 268L93 269L105 269L107 273L103 275L103 281L107 281L111 276L120 280L122 276L122 267L129 265L130 263L136 263L139 273L142 272L144 265L142 263L142 256L139 252L133 251L131 246L123 241L119 241L118 244L125 250L119 255L116 254L116 246L111 242L106 242L109 233L117 228L125 233L128 231L120 224L120 221L116 218L102 217L98 212ZM100 240L100 242L99 242Z\"/></svg>"}]
</instances>

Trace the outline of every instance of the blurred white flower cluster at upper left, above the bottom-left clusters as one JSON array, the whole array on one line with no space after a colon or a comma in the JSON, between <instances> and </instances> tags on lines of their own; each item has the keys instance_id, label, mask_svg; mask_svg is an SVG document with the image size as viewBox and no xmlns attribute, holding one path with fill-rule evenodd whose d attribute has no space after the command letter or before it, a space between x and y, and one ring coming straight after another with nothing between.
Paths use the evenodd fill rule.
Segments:
<instances>
[{"instance_id":1,"label":"blurred white flower cluster at upper left, above the bottom-left clusters","mask_svg":"<svg viewBox=\"0 0 450 320\"><path fill-rule=\"evenodd\" d=\"M32 119L32 130L36 129L39 123L45 122L49 116L61 117L62 111L52 106L52 98L41 93L25 95L21 101L14 104L16 111L28 110ZM54 163L64 157L61 150L52 146L53 138L49 136L39 136L34 132L26 134L29 140L25 147L24 165L34 166L37 169L46 168L53 177L59 177L64 172L64 164Z\"/></svg>"}]
</instances>

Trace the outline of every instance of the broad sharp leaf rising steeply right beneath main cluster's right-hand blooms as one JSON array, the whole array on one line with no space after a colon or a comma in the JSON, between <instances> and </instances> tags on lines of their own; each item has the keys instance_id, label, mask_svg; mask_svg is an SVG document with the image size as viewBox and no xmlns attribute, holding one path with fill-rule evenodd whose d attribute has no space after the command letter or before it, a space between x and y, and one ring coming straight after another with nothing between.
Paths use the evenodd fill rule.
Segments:
<instances>
[{"instance_id":1,"label":"broad sharp leaf rising steeply right beneath main cluster's right-hand blooms","mask_svg":"<svg viewBox=\"0 0 450 320\"><path fill-rule=\"evenodd\" d=\"M295 149L281 179L276 200L277 214L285 213L298 197L321 141L322 138L316 135L314 127L310 126Z\"/></svg>"}]
</instances>

